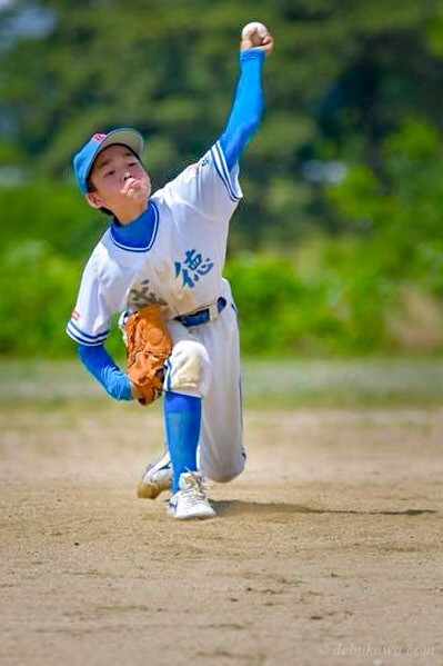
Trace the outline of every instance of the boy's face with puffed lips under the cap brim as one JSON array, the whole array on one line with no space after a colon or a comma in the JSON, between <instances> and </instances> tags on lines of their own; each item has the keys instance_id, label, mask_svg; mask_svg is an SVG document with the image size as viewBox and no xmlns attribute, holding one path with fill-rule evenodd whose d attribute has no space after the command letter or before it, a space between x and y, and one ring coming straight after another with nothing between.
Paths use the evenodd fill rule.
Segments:
<instances>
[{"instance_id":1,"label":"boy's face with puffed lips under the cap brim","mask_svg":"<svg viewBox=\"0 0 443 666\"><path fill-rule=\"evenodd\" d=\"M107 208L119 219L137 217L151 193L151 180L138 157L120 143L104 148L95 158L87 199L94 208Z\"/></svg>"}]
</instances>

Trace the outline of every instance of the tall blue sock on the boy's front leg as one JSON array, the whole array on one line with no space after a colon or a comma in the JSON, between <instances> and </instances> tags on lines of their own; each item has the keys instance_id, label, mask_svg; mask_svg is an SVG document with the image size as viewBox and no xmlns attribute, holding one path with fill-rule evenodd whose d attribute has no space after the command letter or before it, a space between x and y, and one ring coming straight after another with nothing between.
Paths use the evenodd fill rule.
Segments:
<instances>
[{"instance_id":1,"label":"tall blue sock on the boy's front leg","mask_svg":"<svg viewBox=\"0 0 443 666\"><path fill-rule=\"evenodd\" d=\"M182 471L197 470L201 398L167 391L164 394L164 423L172 463L172 493L177 493Z\"/></svg>"}]
</instances>

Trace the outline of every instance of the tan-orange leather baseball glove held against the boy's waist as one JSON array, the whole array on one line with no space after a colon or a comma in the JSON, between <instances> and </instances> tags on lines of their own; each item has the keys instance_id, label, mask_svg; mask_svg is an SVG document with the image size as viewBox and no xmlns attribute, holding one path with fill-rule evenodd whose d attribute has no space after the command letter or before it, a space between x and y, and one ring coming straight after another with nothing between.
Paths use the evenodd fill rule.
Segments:
<instances>
[{"instance_id":1,"label":"tan-orange leather baseball glove held against the boy's waist","mask_svg":"<svg viewBox=\"0 0 443 666\"><path fill-rule=\"evenodd\" d=\"M124 334L129 378L142 395L139 401L149 405L161 395L163 366L172 349L160 306L151 305L130 315Z\"/></svg>"}]
</instances>

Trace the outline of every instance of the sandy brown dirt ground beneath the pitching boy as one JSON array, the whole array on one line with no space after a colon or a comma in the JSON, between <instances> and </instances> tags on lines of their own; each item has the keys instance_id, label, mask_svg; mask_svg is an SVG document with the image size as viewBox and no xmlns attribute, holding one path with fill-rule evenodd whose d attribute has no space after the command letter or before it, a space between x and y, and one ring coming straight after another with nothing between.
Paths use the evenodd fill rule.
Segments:
<instances>
[{"instance_id":1,"label":"sandy brown dirt ground beneath the pitching boy","mask_svg":"<svg viewBox=\"0 0 443 666\"><path fill-rule=\"evenodd\" d=\"M0 418L1 666L443 664L442 410L248 410L185 524L135 496L159 410Z\"/></svg>"}]
</instances>

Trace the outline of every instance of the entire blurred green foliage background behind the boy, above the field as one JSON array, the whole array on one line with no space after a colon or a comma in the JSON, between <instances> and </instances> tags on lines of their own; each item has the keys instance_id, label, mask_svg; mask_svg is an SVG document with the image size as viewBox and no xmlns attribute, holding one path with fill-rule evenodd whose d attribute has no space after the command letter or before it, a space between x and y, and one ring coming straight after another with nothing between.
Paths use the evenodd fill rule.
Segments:
<instances>
[{"instance_id":1,"label":"entire blurred green foliage background behind the boy, above the field","mask_svg":"<svg viewBox=\"0 0 443 666\"><path fill-rule=\"evenodd\" d=\"M442 349L442 0L17 0L0 10L0 354L72 354L64 322L107 225L72 152L129 125L155 186L194 161L250 20L275 52L226 265L244 351Z\"/></svg>"}]
</instances>

